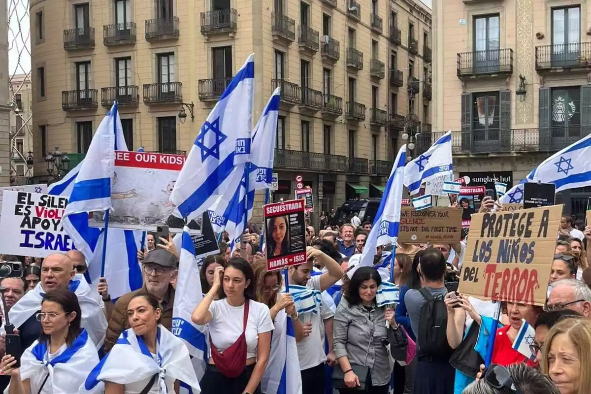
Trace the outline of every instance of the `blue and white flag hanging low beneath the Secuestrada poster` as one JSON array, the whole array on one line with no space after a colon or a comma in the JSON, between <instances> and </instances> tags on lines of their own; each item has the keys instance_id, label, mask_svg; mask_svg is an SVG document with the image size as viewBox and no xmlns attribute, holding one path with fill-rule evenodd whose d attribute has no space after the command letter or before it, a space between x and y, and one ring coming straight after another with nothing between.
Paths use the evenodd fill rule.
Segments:
<instances>
[{"instance_id":1,"label":"blue and white flag hanging low beneath the Secuestrada poster","mask_svg":"<svg viewBox=\"0 0 591 394\"><path fill-rule=\"evenodd\" d=\"M275 317L274 324L269 362L261 380L262 392L302 394L300 361L293 323L285 310L281 310Z\"/></svg>"}]
</instances>

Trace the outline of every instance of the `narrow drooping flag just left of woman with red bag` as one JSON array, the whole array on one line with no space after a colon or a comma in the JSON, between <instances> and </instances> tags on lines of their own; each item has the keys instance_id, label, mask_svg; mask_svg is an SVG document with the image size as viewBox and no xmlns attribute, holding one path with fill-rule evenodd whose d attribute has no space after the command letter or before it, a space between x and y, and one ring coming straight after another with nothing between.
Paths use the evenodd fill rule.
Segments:
<instances>
[{"instance_id":1,"label":"narrow drooping flag just left of woman with red bag","mask_svg":"<svg viewBox=\"0 0 591 394\"><path fill-rule=\"evenodd\" d=\"M203 290L189 227L184 227L180 236L181 253L174 293L172 333L186 344L197 379L201 380L207 366L207 327L194 324L191 314L203 300ZM181 384L181 391L184 389L184 392L190 392L189 388L183 386Z\"/></svg>"}]
</instances>

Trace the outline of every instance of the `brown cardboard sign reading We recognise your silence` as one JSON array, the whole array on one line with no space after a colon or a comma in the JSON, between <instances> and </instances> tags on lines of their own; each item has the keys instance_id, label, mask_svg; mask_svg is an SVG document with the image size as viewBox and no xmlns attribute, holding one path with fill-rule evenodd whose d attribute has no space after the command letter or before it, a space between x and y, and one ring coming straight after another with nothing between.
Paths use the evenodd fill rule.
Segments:
<instances>
[{"instance_id":1,"label":"brown cardboard sign reading We recognise your silence","mask_svg":"<svg viewBox=\"0 0 591 394\"><path fill-rule=\"evenodd\" d=\"M462 210L429 208L416 211L402 207L400 211L401 243L458 243L462 236Z\"/></svg>"}]
</instances>

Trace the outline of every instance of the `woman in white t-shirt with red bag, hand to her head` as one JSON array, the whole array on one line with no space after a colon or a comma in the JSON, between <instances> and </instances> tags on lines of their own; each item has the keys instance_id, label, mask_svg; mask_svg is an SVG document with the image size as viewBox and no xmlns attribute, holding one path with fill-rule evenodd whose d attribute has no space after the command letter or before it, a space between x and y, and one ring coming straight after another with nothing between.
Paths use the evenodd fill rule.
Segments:
<instances>
[{"instance_id":1,"label":"woman in white t-shirt with red bag, hand to her head","mask_svg":"<svg viewBox=\"0 0 591 394\"><path fill-rule=\"evenodd\" d=\"M216 268L212 288L192 315L193 323L209 325L203 393L261 394L274 326L267 305L255 299L254 273L245 259Z\"/></svg>"}]
</instances>

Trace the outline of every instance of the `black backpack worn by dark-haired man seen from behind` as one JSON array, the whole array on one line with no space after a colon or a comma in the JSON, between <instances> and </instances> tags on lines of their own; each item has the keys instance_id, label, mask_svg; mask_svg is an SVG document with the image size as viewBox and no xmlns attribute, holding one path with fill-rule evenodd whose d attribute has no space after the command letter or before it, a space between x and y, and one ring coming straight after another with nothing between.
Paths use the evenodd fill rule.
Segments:
<instances>
[{"instance_id":1,"label":"black backpack worn by dark-haired man seen from behind","mask_svg":"<svg viewBox=\"0 0 591 394\"><path fill-rule=\"evenodd\" d=\"M443 299L434 298L426 289L420 289L426 303L418 320L418 347L423 356L443 356L450 353L447 343L447 308Z\"/></svg>"}]
</instances>

